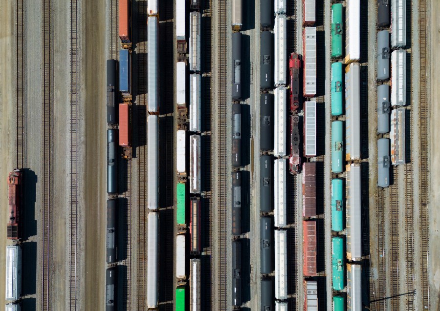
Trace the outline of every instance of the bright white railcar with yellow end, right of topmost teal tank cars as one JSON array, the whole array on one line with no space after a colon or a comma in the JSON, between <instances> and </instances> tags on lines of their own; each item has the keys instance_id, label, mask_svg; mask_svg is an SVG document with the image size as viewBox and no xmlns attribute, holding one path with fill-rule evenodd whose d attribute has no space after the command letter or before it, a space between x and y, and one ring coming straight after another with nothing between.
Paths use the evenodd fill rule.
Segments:
<instances>
[{"instance_id":1,"label":"bright white railcar with yellow end, right of topmost teal tank cars","mask_svg":"<svg viewBox=\"0 0 440 311\"><path fill-rule=\"evenodd\" d=\"M345 6L345 64L360 59L360 0L348 0Z\"/></svg>"}]
</instances>

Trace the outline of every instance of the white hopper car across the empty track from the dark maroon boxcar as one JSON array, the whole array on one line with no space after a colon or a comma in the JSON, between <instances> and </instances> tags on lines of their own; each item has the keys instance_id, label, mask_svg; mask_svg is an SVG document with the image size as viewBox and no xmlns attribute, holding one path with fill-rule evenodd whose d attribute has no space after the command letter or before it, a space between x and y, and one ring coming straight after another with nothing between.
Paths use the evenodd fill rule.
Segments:
<instances>
[{"instance_id":1,"label":"white hopper car across the empty track from the dark maroon boxcar","mask_svg":"<svg viewBox=\"0 0 440 311\"><path fill-rule=\"evenodd\" d=\"M275 227L286 227L286 206L287 206L287 182L286 182L286 160L275 159L274 160L274 216Z\"/></svg>"}]
</instances>

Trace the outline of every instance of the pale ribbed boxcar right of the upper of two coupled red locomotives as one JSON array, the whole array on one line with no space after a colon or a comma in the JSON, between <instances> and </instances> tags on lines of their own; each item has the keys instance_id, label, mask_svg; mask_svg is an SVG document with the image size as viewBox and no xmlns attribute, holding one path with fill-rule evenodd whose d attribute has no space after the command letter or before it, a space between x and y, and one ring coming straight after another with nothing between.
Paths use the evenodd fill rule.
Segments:
<instances>
[{"instance_id":1,"label":"pale ribbed boxcar right of the upper of two coupled red locomotives","mask_svg":"<svg viewBox=\"0 0 440 311\"><path fill-rule=\"evenodd\" d=\"M306 27L303 29L303 63L303 95L304 97L313 97L316 95L317 87L316 27Z\"/></svg>"}]
</instances>

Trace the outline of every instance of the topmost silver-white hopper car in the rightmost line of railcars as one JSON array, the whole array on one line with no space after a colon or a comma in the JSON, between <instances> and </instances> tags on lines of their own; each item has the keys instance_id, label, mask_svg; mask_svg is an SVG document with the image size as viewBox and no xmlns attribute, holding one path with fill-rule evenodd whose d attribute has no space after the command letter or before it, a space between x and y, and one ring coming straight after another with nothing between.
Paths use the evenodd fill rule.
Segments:
<instances>
[{"instance_id":1,"label":"topmost silver-white hopper car in the rightmost line of railcars","mask_svg":"<svg viewBox=\"0 0 440 311\"><path fill-rule=\"evenodd\" d=\"M391 0L391 47L406 45L406 0Z\"/></svg>"}]
</instances>

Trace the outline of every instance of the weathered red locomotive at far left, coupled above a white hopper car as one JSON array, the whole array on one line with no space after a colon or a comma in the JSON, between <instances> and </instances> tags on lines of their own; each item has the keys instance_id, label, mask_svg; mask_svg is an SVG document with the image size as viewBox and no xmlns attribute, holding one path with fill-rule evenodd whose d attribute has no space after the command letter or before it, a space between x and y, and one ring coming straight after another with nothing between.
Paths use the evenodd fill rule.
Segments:
<instances>
[{"instance_id":1,"label":"weathered red locomotive at far left, coupled above a white hopper car","mask_svg":"<svg viewBox=\"0 0 440 311\"><path fill-rule=\"evenodd\" d=\"M9 221L7 225L7 238L10 240L20 240L22 237L22 179L23 173L19 169L15 169L9 173Z\"/></svg>"}]
</instances>

